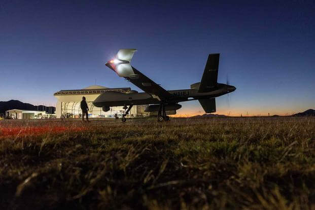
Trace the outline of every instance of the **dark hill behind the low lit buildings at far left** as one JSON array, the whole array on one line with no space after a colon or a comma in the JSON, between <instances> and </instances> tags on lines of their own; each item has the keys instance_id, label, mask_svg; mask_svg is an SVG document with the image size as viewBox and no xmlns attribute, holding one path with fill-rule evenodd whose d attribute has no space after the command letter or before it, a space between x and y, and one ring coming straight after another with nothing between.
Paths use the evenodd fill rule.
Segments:
<instances>
[{"instance_id":1,"label":"dark hill behind the low lit buildings at far left","mask_svg":"<svg viewBox=\"0 0 315 210\"><path fill-rule=\"evenodd\" d=\"M17 109L17 110L33 110L33 111L45 111L46 109L46 113L48 114L53 114L56 111L55 107L46 107L43 105L40 106L34 106L30 103L23 103L19 100L9 100L9 101L0 101L0 113L6 113L6 111L8 110L13 110L13 109ZM51 111L51 113L50 113Z\"/></svg>"}]
</instances>

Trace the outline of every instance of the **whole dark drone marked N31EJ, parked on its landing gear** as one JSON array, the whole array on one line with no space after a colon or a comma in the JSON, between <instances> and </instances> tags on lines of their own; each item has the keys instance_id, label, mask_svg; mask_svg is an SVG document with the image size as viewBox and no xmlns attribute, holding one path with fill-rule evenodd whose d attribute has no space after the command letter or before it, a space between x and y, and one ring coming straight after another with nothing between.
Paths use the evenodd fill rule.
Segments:
<instances>
[{"instance_id":1,"label":"whole dark drone marked N31EJ, parked on its landing gear","mask_svg":"<svg viewBox=\"0 0 315 210\"><path fill-rule=\"evenodd\" d=\"M106 66L116 72L119 77L124 77L145 92L139 93L135 90L130 93L108 91L100 94L93 101L93 105L101 107L104 112L109 111L110 107L124 106L127 111L122 117L123 122L126 121L125 116L133 105L142 104L150 104L145 112L158 112L158 121L169 120L166 111L180 109L182 106L179 102L183 101L199 100L205 113L213 113L216 112L216 97L236 89L234 86L217 82L219 53L209 54L201 82L192 84L190 89L167 91L131 66L130 61L135 51L135 49L120 49L116 58L108 61Z\"/></svg>"}]
</instances>

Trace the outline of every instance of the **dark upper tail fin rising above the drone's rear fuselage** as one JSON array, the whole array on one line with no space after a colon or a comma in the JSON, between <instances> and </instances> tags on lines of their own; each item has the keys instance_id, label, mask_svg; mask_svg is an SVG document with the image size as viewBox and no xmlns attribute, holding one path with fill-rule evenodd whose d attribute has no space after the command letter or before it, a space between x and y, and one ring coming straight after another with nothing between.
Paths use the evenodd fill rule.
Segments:
<instances>
[{"instance_id":1,"label":"dark upper tail fin rising above the drone's rear fuselage","mask_svg":"<svg viewBox=\"0 0 315 210\"><path fill-rule=\"evenodd\" d=\"M199 93L209 92L217 86L220 54L209 54L201 78Z\"/></svg>"}]
</instances>

